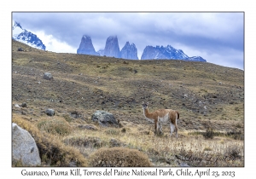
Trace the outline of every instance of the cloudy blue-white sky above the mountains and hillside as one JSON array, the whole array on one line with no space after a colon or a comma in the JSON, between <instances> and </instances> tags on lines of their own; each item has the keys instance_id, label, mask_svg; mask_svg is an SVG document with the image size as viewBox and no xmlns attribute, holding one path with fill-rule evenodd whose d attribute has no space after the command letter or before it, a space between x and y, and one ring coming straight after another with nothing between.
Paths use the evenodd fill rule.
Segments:
<instances>
[{"instance_id":1,"label":"cloudy blue-white sky above the mountains and hillside","mask_svg":"<svg viewBox=\"0 0 256 179\"><path fill-rule=\"evenodd\" d=\"M121 50L135 43L140 59L152 45L172 45L186 55L207 62L244 69L244 13L12 13L23 29L35 33L46 50L76 53L83 35L94 48L104 49L109 36L116 35Z\"/></svg>"}]
</instances>

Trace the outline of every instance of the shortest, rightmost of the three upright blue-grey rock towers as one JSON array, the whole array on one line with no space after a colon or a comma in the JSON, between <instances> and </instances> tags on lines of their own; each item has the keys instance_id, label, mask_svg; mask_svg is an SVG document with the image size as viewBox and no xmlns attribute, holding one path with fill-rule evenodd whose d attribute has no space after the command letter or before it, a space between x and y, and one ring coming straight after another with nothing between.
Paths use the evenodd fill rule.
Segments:
<instances>
[{"instance_id":1,"label":"shortest, rightmost of the three upright blue-grey rock towers","mask_svg":"<svg viewBox=\"0 0 256 179\"><path fill-rule=\"evenodd\" d=\"M137 48L134 43L126 42L123 49L121 49L121 58L138 60L137 58Z\"/></svg>"}]
</instances>

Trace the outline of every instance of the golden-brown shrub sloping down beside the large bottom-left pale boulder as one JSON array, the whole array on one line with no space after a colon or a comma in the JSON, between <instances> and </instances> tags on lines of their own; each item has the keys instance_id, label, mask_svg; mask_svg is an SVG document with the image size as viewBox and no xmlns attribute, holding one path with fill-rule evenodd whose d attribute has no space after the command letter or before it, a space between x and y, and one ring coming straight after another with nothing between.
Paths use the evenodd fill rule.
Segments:
<instances>
[{"instance_id":1,"label":"golden-brown shrub sloping down beside the large bottom-left pale boulder","mask_svg":"<svg viewBox=\"0 0 256 179\"><path fill-rule=\"evenodd\" d=\"M75 164L78 167L87 166L87 160L73 147L65 146L57 137L38 128L23 118L13 116L13 122L27 130L38 146L42 165L68 167Z\"/></svg>"}]
</instances>

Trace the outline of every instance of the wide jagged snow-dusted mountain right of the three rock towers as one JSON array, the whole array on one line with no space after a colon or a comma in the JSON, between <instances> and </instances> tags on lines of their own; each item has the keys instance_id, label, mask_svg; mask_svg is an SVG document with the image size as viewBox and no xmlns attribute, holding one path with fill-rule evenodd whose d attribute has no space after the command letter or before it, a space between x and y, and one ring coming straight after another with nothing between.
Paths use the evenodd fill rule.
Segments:
<instances>
[{"instance_id":1,"label":"wide jagged snow-dusted mountain right of the three rock towers","mask_svg":"<svg viewBox=\"0 0 256 179\"><path fill-rule=\"evenodd\" d=\"M205 61L201 56L189 57L183 53L181 49L174 49L171 45L163 46L147 46L143 50L141 60L151 59L170 59L170 60L183 60L183 61Z\"/></svg>"}]
</instances>

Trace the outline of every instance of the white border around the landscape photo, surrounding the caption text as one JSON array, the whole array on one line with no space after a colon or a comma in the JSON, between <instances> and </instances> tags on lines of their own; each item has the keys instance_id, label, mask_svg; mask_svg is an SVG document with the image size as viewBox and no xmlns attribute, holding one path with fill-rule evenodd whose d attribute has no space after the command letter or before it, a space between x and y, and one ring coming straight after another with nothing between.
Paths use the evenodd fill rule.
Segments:
<instances>
[{"instance_id":1,"label":"white border around the landscape photo, surrounding the caption text","mask_svg":"<svg viewBox=\"0 0 256 179\"><path fill-rule=\"evenodd\" d=\"M251 3L252 2L252 3ZM245 167L243 168L211 168L212 170L236 170L236 177L254 176L253 161L255 155L253 148L255 147L253 135L253 117L254 110L254 85L253 72L255 67L255 9L253 1L72 1L71 3L59 1L5 1L1 5L1 81L3 82L1 89L1 177L11 178L13 176L21 176L20 171L23 168L11 167L11 12L13 11L244 11L245 12ZM234 37L236 38L236 37ZM62 168L63 170L69 170ZM50 170L50 168L33 168L30 170ZM93 168L89 168L93 170ZM105 170L105 169L97 169ZM125 169L124 169L125 170ZM153 170L153 169L149 169ZM177 169L174 169L177 170ZM189 170L196 170L191 168ZM199 168L199 170L207 170L207 168ZM50 176L53 177L53 176ZM67 178L67 176L61 176ZM100 178L102 176L94 176ZM113 176L110 176L113 177ZM119 177L119 176L117 176ZM125 177L125 176L123 176ZM127 176L131 177L131 176ZM140 176L141 177L141 176ZM154 176L146 176L154 177ZM170 177L170 176L168 176ZM191 176L183 176L183 178L191 178ZM60 178L60 177L59 177ZM209 178L209 177L203 177ZM219 177L218 177L219 178ZM253 178L253 177L251 177Z\"/></svg>"}]
</instances>

